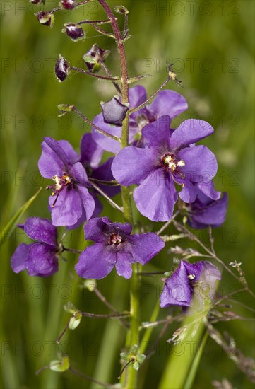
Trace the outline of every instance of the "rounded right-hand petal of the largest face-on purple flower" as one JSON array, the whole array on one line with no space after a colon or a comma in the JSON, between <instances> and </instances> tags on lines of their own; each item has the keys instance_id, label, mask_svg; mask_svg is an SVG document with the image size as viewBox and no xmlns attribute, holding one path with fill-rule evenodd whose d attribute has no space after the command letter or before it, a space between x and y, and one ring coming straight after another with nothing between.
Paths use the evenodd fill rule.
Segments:
<instances>
[{"instance_id":1,"label":"rounded right-hand petal of the largest face-on purple flower","mask_svg":"<svg viewBox=\"0 0 255 389\"><path fill-rule=\"evenodd\" d=\"M178 157L184 160L182 173L191 182L208 183L217 172L215 155L206 146L187 147L179 151Z\"/></svg>"}]
</instances>

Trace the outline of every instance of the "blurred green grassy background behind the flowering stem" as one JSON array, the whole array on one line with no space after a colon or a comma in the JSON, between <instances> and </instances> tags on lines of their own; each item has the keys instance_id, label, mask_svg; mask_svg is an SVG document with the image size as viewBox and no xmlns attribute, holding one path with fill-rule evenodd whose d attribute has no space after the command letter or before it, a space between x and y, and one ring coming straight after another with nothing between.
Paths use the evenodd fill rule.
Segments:
<instances>
[{"instance_id":1,"label":"blurred green grassy background behind the flowering stem","mask_svg":"<svg viewBox=\"0 0 255 389\"><path fill-rule=\"evenodd\" d=\"M45 9L57 6L46 0ZM167 66L175 69L184 88L174 83L169 88L182 93L189 110L174 120L179 125L188 117L207 120L215 134L206 139L218 158L215 186L227 191L230 205L223 227L214 231L215 249L226 263L237 260L247 281L254 288L254 1L109 1L110 6L129 8L131 39L126 42L129 74L153 74L142 84L148 94L164 81ZM81 135L89 131L74 115L57 117L59 103L74 103L84 115L92 118L100 112L101 100L111 98L114 88L82 74L73 74L64 83L54 77L54 62L59 53L73 65L82 66L82 55L93 43L112 50L107 65L118 71L117 51L113 40L85 26L87 39L71 42L61 33L64 23L81 19L104 18L97 1L70 13L55 16L52 30L40 25L34 12L42 7L26 0L1 1L1 228L40 186L45 187L37 171L43 137L67 139L78 149ZM49 217L48 193L42 191L25 214ZM119 199L116 200L117 202ZM111 219L119 215L107 204ZM136 214L136 221L142 219ZM160 226L160 224L159 224ZM171 229L170 232L174 231ZM206 233L200 237L207 243ZM67 352L74 367L102 381L117 382L119 352L125 332L114 320L83 319L75 331L67 331L61 344L55 340L69 319L63 306L72 301L88 312L107 313L107 309L88 291L78 289L80 281L73 274L76 257L60 262L60 270L49 279L14 274L10 260L16 245L24 240L18 231L1 249L1 358L4 388L97 388L71 373L35 371L56 359L57 352ZM64 238L69 247L85 247L83 233ZM183 247L196 248L189 241L178 241ZM167 248L169 248L169 244ZM172 255L165 248L146 269L170 269ZM119 310L128 309L129 283L112 274L98 282L99 289ZM142 319L149 320L162 284L153 278L143 280ZM227 294L239 285L225 272L220 293ZM249 294L237 294L232 309L245 317L252 312L239 302L254 306ZM167 311L160 312L164 318ZM230 321L216 325L226 330L245 356L254 357L254 322ZM170 325L165 337L147 364L141 368L139 388L156 388L171 354L165 340L177 324ZM160 328L153 332L155 339ZM213 380L227 378L235 388L252 388L244 373L214 342L203 353L194 388L210 388Z\"/></svg>"}]
</instances>

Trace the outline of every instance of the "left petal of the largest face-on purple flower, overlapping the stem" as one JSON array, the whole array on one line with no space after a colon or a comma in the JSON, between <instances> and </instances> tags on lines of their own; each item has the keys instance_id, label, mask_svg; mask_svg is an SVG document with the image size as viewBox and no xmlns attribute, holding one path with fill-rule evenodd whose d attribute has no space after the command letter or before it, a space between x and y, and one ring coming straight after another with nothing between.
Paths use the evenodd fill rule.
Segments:
<instances>
[{"instance_id":1,"label":"left petal of the largest face-on purple flower, overlapping the stem","mask_svg":"<svg viewBox=\"0 0 255 389\"><path fill-rule=\"evenodd\" d=\"M112 162L112 174L121 185L140 184L157 168L157 153L153 149L124 147Z\"/></svg>"}]
</instances>

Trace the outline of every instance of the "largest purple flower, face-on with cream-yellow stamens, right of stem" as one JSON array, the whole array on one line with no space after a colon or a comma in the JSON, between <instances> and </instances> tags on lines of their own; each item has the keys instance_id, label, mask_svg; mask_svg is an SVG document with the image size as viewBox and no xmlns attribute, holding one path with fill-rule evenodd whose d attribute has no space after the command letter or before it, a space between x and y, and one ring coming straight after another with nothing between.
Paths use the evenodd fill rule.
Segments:
<instances>
[{"instance_id":1,"label":"largest purple flower, face-on with cream-yellow stamens, right of stem","mask_svg":"<svg viewBox=\"0 0 255 389\"><path fill-rule=\"evenodd\" d=\"M197 196L194 185L214 197L211 180L217 171L214 154L206 146L194 146L196 141L213 133L213 127L203 120L185 120L170 130L170 117L162 116L142 129L146 148L129 146L114 158L112 173L121 185L139 185L134 190L136 207L153 221L172 217L177 191L187 203Z\"/></svg>"}]
</instances>

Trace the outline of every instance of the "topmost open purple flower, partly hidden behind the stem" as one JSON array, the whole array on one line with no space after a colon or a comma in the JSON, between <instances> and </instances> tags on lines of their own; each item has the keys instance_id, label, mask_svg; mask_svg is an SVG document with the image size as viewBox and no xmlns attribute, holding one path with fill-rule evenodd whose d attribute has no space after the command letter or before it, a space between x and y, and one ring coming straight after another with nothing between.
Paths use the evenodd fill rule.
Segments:
<instances>
[{"instance_id":1,"label":"topmost open purple flower, partly hidden behind the stem","mask_svg":"<svg viewBox=\"0 0 255 389\"><path fill-rule=\"evenodd\" d=\"M138 107L147 99L146 89L143 86L135 86L129 90L130 108ZM134 141L138 132L148 123L155 122L162 115L168 115L172 120L174 117L184 112L188 108L186 100L177 92L165 90L158 93L153 103L145 108L134 112L129 117L129 143ZM121 129L104 122L102 113L95 117L94 123L97 127L104 129L109 134L121 137ZM106 151L117 153L121 146L118 141L105 137L105 135L93 129L95 141Z\"/></svg>"}]
</instances>

